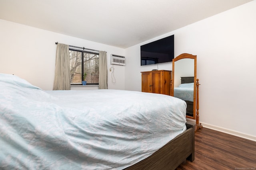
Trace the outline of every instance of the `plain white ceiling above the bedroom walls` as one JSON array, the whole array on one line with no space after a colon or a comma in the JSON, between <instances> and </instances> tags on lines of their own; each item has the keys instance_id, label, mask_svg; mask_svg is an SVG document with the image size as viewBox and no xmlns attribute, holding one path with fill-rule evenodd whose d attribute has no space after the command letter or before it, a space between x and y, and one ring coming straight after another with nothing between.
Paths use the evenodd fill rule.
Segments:
<instances>
[{"instance_id":1,"label":"plain white ceiling above the bedroom walls","mask_svg":"<svg viewBox=\"0 0 256 170\"><path fill-rule=\"evenodd\" d=\"M0 0L0 19L127 48L250 1Z\"/></svg>"}]
</instances>

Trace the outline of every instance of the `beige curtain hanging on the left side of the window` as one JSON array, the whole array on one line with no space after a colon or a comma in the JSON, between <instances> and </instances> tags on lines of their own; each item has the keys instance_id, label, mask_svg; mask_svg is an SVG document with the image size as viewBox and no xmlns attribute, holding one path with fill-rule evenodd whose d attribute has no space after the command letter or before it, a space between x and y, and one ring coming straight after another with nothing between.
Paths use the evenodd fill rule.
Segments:
<instances>
[{"instance_id":1,"label":"beige curtain hanging on the left side of the window","mask_svg":"<svg viewBox=\"0 0 256 170\"><path fill-rule=\"evenodd\" d=\"M57 44L53 90L70 90L69 46Z\"/></svg>"}]
</instances>

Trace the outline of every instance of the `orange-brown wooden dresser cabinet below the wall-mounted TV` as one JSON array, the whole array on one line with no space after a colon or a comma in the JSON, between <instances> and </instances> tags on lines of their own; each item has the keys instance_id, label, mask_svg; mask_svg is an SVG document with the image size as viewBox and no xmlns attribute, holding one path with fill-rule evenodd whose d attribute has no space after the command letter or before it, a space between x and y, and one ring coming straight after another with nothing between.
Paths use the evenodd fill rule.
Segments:
<instances>
[{"instance_id":1,"label":"orange-brown wooden dresser cabinet below the wall-mounted TV","mask_svg":"<svg viewBox=\"0 0 256 170\"><path fill-rule=\"evenodd\" d=\"M171 78L170 70L155 70L141 72L141 89L142 92L171 94Z\"/></svg>"}]
</instances>

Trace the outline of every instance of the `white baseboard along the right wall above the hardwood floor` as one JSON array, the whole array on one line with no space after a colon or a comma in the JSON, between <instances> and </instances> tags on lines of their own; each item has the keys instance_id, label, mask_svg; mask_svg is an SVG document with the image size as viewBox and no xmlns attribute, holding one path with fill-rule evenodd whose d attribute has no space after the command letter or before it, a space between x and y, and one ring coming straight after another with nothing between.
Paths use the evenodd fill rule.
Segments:
<instances>
[{"instance_id":1,"label":"white baseboard along the right wall above the hardwood floor","mask_svg":"<svg viewBox=\"0 0 256 170\"><path fill-rule=\"evenodd\" d=\"M189 119L189 121L196 122L195 120L192 120L192 119ZM230 134L230 135L234 135L234 136L237 136L237 137L242 137L244 139L249 139L251 141L256 141L256 136L253 136L253 135L250 135L250 134L247 134L247 133L234 131L232 129L227 129L227 128L224 128L224 127L215 126L215 125L211 125L211 124L208 124L208 123L203 123L203 122L200 122L200 123L202 123L203 127L206 127L208 129L212 129L212 130L215 130L215 131L220 131L220 132L227 133L227 134Z\"/></svg>"}]
</instances>

